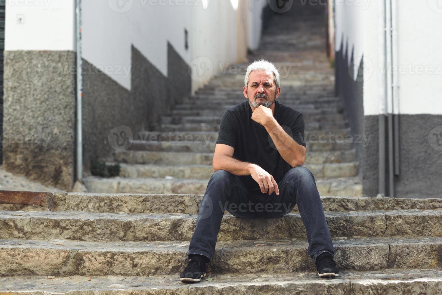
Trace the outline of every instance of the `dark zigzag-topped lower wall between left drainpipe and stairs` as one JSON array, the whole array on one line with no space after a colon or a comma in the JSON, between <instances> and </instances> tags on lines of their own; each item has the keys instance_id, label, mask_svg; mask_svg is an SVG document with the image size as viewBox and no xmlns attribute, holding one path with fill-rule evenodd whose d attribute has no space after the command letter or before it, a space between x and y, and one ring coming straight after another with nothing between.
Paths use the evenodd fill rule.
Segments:
<instances>
[{"instance_id":1,"label":"dark zigzag-topped lower wall between left drainpipe and stairs","mask_svg":"<svg viewBox=\"0 0 442 295\"><path fill-rule=\"evenodd\" d=\"M132 46L131 89L127 90L84 60L83 77L84 172L90 175L91 161L112 161L115 150L108 135L117 126L127 126L138 138L142 130L160 126L161 115L191 94L187 63L168 43L168 77L165 77L137 48Z\"/></svg>"}]
</instances>

